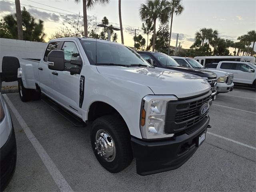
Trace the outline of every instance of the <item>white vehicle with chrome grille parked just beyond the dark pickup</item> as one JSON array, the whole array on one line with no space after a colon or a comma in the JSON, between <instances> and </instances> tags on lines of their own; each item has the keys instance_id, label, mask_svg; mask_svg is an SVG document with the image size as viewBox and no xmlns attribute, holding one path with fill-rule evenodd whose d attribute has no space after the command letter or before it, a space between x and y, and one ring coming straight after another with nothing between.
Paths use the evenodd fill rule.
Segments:
<instances>
[{"instance_id":1,"label":"white vehicle with chrome grille parked just beyond the dark pickup","mask_svg":"<svg viewBox=\"0 0 256 192\"><path fill-rule=\"evenodd\" d=\"M176 57L172 56L176 62L179 62L181 66L184 67L191 67L191 68L196 68L196 69L203 69L203 70L208 70L211 72L214 72L217 75L217 93L226 93L229 91L232 91L234 88L234 83L233 83L233 74L229 72L224 72L220 70L213 70L213 69L206 69L204 66L202 66L198 61L196 61L193 58L188 58L188 57Z\"/></svg>"}]
</instances>

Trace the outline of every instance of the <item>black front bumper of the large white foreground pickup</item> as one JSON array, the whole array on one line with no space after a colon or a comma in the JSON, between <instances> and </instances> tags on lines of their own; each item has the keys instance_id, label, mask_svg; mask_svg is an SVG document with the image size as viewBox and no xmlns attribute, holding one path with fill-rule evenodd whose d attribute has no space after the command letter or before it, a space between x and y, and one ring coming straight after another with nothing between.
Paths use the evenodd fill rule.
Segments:
<instances>
[{"instance_id":1,"label":"black front bumper of the large white foreground pickup","mask_svg":"<svg viewBox=\"0 0 256 192\"><path fill-rule=\"evenodd\" d=\"M182 166L197 150L196 140L202 132L207 131L210 117L200 124L192 134L181 134L166 140L141 140L131 138L136 169L140 175L154 174L173 170Z\"/></svg>"}]
</instances>

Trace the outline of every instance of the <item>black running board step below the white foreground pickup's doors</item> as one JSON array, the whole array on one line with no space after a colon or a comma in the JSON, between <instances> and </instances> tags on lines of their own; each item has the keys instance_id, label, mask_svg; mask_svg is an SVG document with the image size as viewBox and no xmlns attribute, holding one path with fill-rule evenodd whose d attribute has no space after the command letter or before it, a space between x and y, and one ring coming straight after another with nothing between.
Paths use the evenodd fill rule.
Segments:
<instances>
[{"instance_id":1,"label":"black running board step below the white foreground pickup's doors","mask_svg":"<svg viewBox=\"0 0 256 192\"><path fill-rule=\"evenodd\" d=\"M48 104L54 111L56 111L58 114L63 116L66 120L68 120L70 123L72 123L76 127L85 127L86 123L83 122L82 119L75 116L56 102L54 102L52 99L48 98L45 95L42 95L42 101Z\"/></svg>"}]
</instances>

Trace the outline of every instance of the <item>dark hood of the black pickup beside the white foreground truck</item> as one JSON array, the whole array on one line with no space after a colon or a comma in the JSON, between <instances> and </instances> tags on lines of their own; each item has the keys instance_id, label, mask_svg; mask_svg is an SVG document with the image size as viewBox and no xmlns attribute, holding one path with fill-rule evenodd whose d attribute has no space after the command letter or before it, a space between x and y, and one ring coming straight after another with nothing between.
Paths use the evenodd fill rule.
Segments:
<instances>
[{"instance_id":1,"label":"dark hood of the black pickup beside the white foreground truck","mask_svg":"<svg viewBox=\"0 0 256 192\"><path fill-rule=\"evenodd\" d=\"M176 66L161 66L161 68L166 68L166 69L172 69L172 70L177 70L180 72L186 72L186 73L190 73L193 75L197 75L200 77L207 77L209 79L214 79L216 78L216 74L214 74L213 72L210 72L208 70L204 70L204 69L195 69L195 68L189 68L189 67L176 67Z\"/></svg>"}]
</instances>

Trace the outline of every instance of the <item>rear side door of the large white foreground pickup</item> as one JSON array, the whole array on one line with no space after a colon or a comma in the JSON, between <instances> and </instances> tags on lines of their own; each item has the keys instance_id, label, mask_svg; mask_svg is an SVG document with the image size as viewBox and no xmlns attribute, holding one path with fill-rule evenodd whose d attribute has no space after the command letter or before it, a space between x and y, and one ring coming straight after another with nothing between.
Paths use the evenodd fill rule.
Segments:
<instances>
[{"instance_id":1,"label":"rear side door of the large white foreground pickup","mask_svg":"<svg viewBox=\"0 0 256 192\"><path fill-rule=\"evenodd\" d=\"M60 42L50 42L46 48L44 53L44 58L41 59L38 65L38 76L39 76L39 86L45 94L50 97L54 96L54 82L53 82L53 75L52 71L48 68L48 54L52 50L57 50L60 46Z\"/></svg>"}]
</instances>

